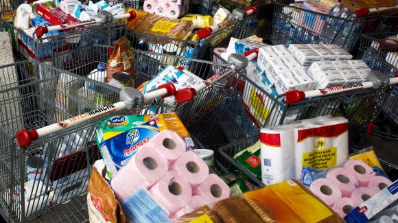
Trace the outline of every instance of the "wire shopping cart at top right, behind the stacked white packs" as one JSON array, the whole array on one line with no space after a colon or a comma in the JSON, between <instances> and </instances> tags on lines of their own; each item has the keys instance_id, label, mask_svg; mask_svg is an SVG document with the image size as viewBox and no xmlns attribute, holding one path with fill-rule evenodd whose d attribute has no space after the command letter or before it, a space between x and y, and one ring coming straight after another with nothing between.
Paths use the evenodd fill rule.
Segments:
<instances>
[{"instance_id":1,"label":"wire shopping cart at top right, behind the stacked white packs","mask_svg":"<svg viewBox=\"0 0 398 223\"><path fill-rule=\"evenodd\" d=\"M299 5L275 3L272 43L333 43L352 51L360 34L388 32L397 26L396 11L375 12L377 9L362 9L343 19L299 8Z\"/></svg>"}]
</instances>

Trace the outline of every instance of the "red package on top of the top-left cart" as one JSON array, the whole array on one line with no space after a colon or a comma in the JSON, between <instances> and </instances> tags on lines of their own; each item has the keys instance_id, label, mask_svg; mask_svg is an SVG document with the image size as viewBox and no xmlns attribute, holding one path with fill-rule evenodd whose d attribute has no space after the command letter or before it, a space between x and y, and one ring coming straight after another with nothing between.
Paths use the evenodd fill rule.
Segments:
<instances>
[{"instance_id":1,"label":"red package on top of the top-left cart","mask_svg":"<svg viewBox=\"0 0 398 223\"><path fill-rule=\"evenodd\" d=\"M36 12L40 14L51 25L62 25L65 23L78 22L78 19L66 14L60 8L57 8L53 1L36 4Z\"/></svg>"}]
</instances>

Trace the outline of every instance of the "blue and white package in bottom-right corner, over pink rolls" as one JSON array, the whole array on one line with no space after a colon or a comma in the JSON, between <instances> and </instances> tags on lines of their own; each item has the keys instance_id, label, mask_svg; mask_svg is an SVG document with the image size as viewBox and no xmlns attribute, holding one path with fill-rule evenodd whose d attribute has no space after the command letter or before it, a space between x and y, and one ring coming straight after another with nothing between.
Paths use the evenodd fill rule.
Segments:
<instances>
[{"instance_id":1,"label":"blue and white package in bottom-right corner, over pink rolls","mask_svg":"<svg viewBox=\"0 0 398 223\"><path fill-rule=\"evenodd\" d=\"M385 187L381 191L375 193L374 196L368 198L348 213L344 220L348 223L364 223L368 222L377 213L386 209L388 205L398 200L398 180L391 185Z\"/></svg>"}]
</instances>

